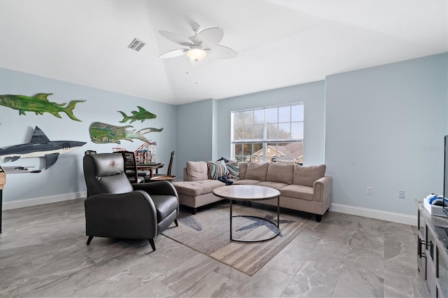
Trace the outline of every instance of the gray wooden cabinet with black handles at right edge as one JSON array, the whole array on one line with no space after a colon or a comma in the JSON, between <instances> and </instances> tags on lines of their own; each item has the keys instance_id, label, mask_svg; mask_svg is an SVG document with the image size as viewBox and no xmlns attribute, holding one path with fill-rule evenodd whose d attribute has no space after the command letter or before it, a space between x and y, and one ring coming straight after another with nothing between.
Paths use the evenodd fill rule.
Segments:
<instances>
[{"instance_id":1,"label":"gray wooden cabinet with black handles at right edge","mask_svg":"<svg viewBox=\"0 0 448 298\"><path fill-rule=\"evenodd\" d=\"M448 298L448 218L418 206L417 267L429 297Z\"/></svg>"}]
</instances>

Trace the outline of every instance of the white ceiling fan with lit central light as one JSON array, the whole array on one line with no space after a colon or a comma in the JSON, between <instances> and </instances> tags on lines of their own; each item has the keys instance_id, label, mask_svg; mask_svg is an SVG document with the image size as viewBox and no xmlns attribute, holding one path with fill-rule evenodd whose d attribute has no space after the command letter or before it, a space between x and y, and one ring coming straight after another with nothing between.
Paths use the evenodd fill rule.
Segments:
<instances>
[{"instance_id":1,"label":"white ceiling fan with lit central light","mask_svg":"<svg viewBox=\"0 0 448 298\"><path fill-rule=\"evenodd\" d=\"M223 45L218 45L224 37L224 30L222 28L214 27L199 31L200 25L193 24L192 29L195 31L195 35L190 36L189 38L185 38L169 31L159 30L159 33L170 41L188 47L165 52L160 55L159 58L165 59L187 55L190 58L190 61L198 62L206 56L217 59L231 59L237 57L238 54L235 50Z\"/></svg>"}]
</instances>

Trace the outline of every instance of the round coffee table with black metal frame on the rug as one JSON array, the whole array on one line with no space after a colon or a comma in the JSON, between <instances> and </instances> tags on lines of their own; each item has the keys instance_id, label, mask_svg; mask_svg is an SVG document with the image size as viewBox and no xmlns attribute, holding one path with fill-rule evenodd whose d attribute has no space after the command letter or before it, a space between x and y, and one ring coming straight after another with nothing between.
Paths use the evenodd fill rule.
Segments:
<instances>
[{"instance_id":1,"label":"round coffee table with black metal frame on the rug","mask_svg":"<svg viewBox=\"0 0 448 298\"><path fill-rule=\"evenodd\" d=\"M272 187L260 186L260 185L226 185L217 187L214 189L213 194L216 197L222 197L223 199L230 200L230 240L239 242L258 242L272 239L280 234L280 192ZM268 220L266 218L260 218L252 215L232 215L232 201L261 201L265 199L277 198L277 222ZM271 222L276 226L276 232L272 236L268 236L263 239L234 239L232 236L232 218L258 218L258 220L264 220Z\"/></svg>"}]
</instances>

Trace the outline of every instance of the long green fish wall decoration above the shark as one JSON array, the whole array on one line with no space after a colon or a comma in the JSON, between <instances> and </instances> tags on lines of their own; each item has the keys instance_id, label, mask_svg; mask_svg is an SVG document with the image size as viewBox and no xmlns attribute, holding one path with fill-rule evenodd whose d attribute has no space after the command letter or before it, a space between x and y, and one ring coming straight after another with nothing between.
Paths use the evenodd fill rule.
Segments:
<instances>
[{"instance_id":1,"label":"long green fish wall decoration above the shark","mask_svg":"<svg viewBox=\"0 0 448 298\"><path fill-rule=\"evenodd\" d=\"M34 112L36 115L43 115L43 113L50 113L51 115L62 118L59 113L66 113L71 120L81 121L73 115L73 109L78 102L85 100L72 100L67 106L64 104L57 104L49 101L48 96L52 93L38 93L32 97L26 95L0 95L0 106L6 106L19 111L19 115L25 115L25 112Z\"/></svg>"}]
</instances>

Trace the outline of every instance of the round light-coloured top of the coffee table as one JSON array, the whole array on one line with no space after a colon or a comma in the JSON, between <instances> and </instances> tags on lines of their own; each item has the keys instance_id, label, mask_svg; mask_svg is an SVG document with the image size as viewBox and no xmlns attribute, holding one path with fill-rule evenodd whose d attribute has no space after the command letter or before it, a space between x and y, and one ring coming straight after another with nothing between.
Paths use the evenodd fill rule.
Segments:
<instances>
[{"instance_id":1,"label":"round light-coloured top of the coffee table","mask_svg":"<svg viewBox=\"0 0 448 298\"><path fill-rule=\"evenodd\" d=\"M260 185L226 185L215 188L213 193L217 197L241 201L274 199L280 195L278 190Z\"/></svg>"}]
</instances>

